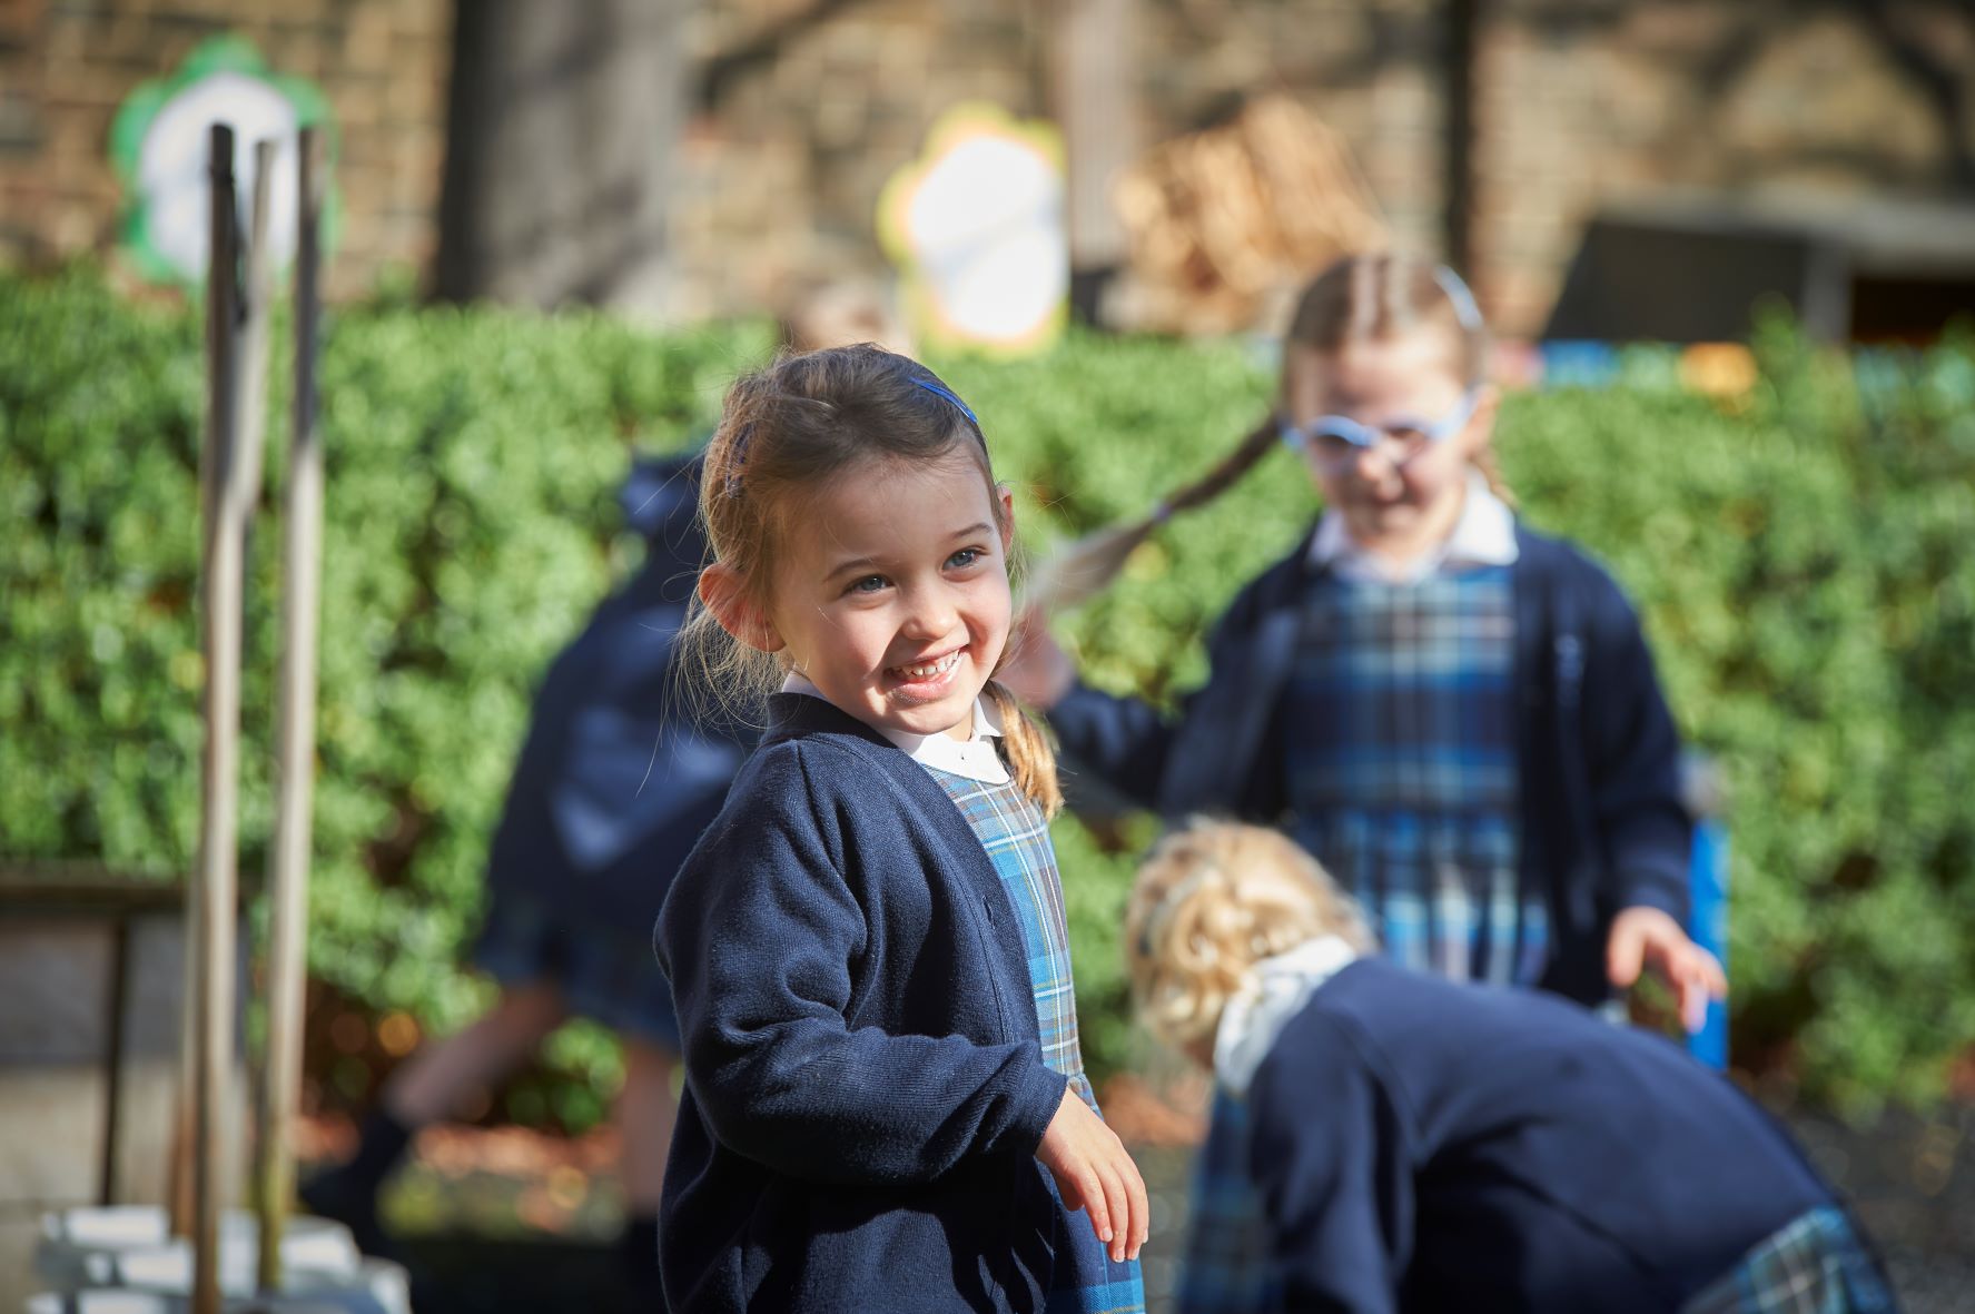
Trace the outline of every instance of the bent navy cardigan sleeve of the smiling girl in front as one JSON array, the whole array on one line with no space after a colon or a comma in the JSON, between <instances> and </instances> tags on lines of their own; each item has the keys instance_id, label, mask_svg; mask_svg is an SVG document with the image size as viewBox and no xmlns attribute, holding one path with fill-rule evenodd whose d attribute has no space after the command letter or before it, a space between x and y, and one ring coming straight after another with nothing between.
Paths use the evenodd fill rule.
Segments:
<instances>
[{"instance_id":1,"label":"bent navy cardigan sleeve of the smiling girl in front","mask_svg":"<svg viewBox=\"0 0 1975 1314\"><path fill-rule=\"evenodd\" d=\"M713 1136L774 1172L841 1184L1033 1154L1065 1093L1037 1041L849 1026L863 909L794 747L754 767L658 921L687 1083Z\"/></svg>"}]
</instances>

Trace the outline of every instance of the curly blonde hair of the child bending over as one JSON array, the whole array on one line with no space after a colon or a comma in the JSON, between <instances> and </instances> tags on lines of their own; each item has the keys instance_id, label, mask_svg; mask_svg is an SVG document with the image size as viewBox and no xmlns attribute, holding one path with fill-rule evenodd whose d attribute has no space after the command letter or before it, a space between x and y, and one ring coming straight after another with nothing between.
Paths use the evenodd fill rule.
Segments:
<instances>
[{"instance_id":1,"label":"curly blonde hair of the child bending over","mask_svg":"<svg viewBox=\"0 0 1975 1314\"><path fill-rule=\"evenodd\" d=\"M1379 948L1315 858L1234 822L1195 820L1165 836L1138 869L1124 927L1140 1018L1179 1049L1213 1045L1221 1012L1262 958L1319 935Z\"/></svg>"}]
</instances>

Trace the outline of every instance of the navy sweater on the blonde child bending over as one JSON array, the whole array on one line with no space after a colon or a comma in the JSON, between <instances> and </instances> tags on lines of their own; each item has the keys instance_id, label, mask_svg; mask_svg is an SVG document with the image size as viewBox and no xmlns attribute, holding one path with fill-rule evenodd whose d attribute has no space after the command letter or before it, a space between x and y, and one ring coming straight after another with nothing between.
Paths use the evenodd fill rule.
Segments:
<instances>
[{"instance_id":1,"label":"navy sweater on the blonde child bending over","mask_svg":"<svg viewBox=\"0 0 1975 1314\"><path fill-rule=\"evenodd\" d=\"M1248 1112L1290 1310L1659 1314L1833 1203L1673 1043L1382 960L1317 988Z\"/></svg>"}]
</instances>

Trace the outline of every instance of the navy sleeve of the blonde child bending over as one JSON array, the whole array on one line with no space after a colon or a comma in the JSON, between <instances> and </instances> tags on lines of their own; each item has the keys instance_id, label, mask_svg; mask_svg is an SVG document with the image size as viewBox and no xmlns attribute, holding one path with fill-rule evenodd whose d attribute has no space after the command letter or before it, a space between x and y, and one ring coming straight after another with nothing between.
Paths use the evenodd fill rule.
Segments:
<instances>
[{"instance_id":1,"label":"navy sleeve of the blonde child bending over","mask_svg":"<svg viewBox=\"0 0 1975 1314\"><path fill-rule=\"evenodd\" d=\"M1390 1314L1412 1261L1406 1122L1343 1024L1305 1016L1292 1031L1248 1093L1282 1308Z\"/></svg>"}]
</instances>

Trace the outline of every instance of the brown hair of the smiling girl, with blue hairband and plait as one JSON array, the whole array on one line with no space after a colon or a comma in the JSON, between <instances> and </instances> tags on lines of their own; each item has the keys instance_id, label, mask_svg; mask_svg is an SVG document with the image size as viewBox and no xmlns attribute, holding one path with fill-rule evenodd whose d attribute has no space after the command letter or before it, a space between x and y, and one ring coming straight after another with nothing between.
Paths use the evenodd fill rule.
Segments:
<instances>
[{"instance_id":1,"label":"brown hair of the smiling girl, with blue hairband and plait","mask_svg":"<svg viewBox=\"0 0 1975 1314\"><path fill-rule=\"evenodd\" d=\"M869 342L784 356L729 389L707 445L699 514L713 559L739 577L745 601L766 613L776 551L822 486L871 462L924 466L954 458L980 468L1005 534L988 441L938 375ZM784 672L776 654L727 634L703 605L685 622L681 642L729 707L764 698ZM1013 646L1011 634L1003 660ZM995 680L984 694L1001 719L1015 784L1055 816L1063 792L1049 741Z\"/></svg>"}]
</instances>

